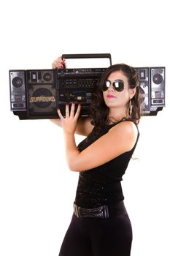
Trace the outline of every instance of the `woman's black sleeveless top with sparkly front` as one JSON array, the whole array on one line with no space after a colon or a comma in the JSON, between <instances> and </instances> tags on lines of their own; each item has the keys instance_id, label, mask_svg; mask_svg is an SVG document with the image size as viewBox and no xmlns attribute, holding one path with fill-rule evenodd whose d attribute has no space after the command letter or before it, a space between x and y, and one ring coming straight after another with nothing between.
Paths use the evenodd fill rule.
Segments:
<instances>
[{"instance_id":1,"label":"woman's black sleeveless top with sparkly front","mask_svg":"<svg viewBox=\"0 0 170 256\"><path fill-rule=\"evenodd\" d=\"M95 140L109 132L115 124L108 125L98 135L90 136L78 145L79 151L83 151ZM93 128L95 129L95 127ZM134 149L139 139L139 131L136 143L131 151L127 151L115 157L104 165L100 165L90 170L80 172L75 202L82 208L96 208L104 205L115 205L124 199L120 181L128 167Z\"/></svg>"}]
</instances>

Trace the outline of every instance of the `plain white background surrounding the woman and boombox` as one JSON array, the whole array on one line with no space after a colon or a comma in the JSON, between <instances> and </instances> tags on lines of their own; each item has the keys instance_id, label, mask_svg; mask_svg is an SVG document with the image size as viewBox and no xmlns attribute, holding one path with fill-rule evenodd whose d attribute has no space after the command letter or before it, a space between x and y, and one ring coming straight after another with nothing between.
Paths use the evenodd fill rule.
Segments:
<instances>
[{"instance_id":1,"label":"plain white background surrounding the woman and boombox","mask_svg":"<svg viewBox=\"0 0 170 256\"><path fill-rule=\"evenodd\" d=\"M78 173L66 165L62 130L48 120L20 121L9 107L8 70L47 69L62 53L166 67L166 108L142 118L139 159L131 160L123 191L131 255L170 255L169 21L166 0L1 2L1 256L58 255L72 217Z\"/></svg>"}]
</instances>

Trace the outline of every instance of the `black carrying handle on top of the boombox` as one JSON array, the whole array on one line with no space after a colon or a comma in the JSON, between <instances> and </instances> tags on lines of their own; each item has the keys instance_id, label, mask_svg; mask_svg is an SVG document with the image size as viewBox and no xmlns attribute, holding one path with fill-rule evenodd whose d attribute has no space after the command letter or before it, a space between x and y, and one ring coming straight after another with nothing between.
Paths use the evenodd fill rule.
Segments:
<instances>
[{"instance_id":1,"label":"black carrying handle on top of the boombox","mask_svg":"<svg viewBox=\"0 0 170 256\"><path fill-rule=\"evenodd\" d=\"M62 59L95 59L95 58L109 58L110 65L112 65L112 59L110 53L91 53L91 54L63 54Z\"/></svg>"}]
</instances>

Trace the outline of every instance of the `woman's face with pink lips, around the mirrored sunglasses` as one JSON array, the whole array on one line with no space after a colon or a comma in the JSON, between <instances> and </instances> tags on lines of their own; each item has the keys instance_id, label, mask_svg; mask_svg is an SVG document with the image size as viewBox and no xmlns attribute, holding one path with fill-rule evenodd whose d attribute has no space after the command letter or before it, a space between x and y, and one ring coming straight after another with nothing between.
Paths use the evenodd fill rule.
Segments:
<instances>
[{"instance_id":1,"label":"woman's face with pink lips, around the mirrored sunglasses","mask_svg":"<svg viewBox=\"0 0 170 256\"><path fill-rule=\"evenodd\" d=\"M103 91L104 102L109 108L125 108L129 99L134 97L135 89L128 88L128 78L121 71L112 72L107 78L111 82L107 91ZM112 85L115 80L122 80L124 83L123 91L116 91Z\"/></svg>"}]
</instances>

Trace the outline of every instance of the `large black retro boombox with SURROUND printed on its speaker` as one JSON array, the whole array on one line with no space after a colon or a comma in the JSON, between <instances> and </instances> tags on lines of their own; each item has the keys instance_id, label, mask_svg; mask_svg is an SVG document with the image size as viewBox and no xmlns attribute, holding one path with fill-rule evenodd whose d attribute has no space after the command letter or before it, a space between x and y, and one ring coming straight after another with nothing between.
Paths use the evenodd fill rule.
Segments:
<instances>
[{"instance_id":1,"label":"large black retro boombox with SURROUND printed on its speaker","mask_svg":"<svg viewBox=\"0 0 170 256\"><path fill-rule=\"evenodd\" d=\"M64 59L109 58L104 54L63 55ZM89 116L98 79L107 68L9 70L11 110L20 119L58 118L69 102L82 104ZM136 67L140 79L142 114L156 116L165 106L165 67Z\"/></svg>"}]
</instances>

